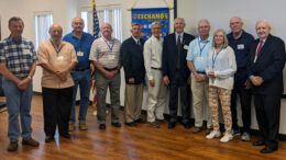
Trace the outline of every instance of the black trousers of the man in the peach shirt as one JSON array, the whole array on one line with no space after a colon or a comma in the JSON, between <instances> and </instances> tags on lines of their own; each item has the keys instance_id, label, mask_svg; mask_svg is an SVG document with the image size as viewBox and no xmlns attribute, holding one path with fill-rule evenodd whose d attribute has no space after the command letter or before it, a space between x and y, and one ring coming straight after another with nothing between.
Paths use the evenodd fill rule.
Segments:
<instances>
[{"instance_id":1,"label":"black trousers of the man in the peach shirt","mask_svg":"<svg viewBox=\"0 0 286 160\"><path fill-rule=\"evenodd\" d=\"M73 87L65 89L42 88L44 105L44 130L54 136L56 126L59 135L68 133L68 121L73 104Z\"/></svg>"}]
</instances>

